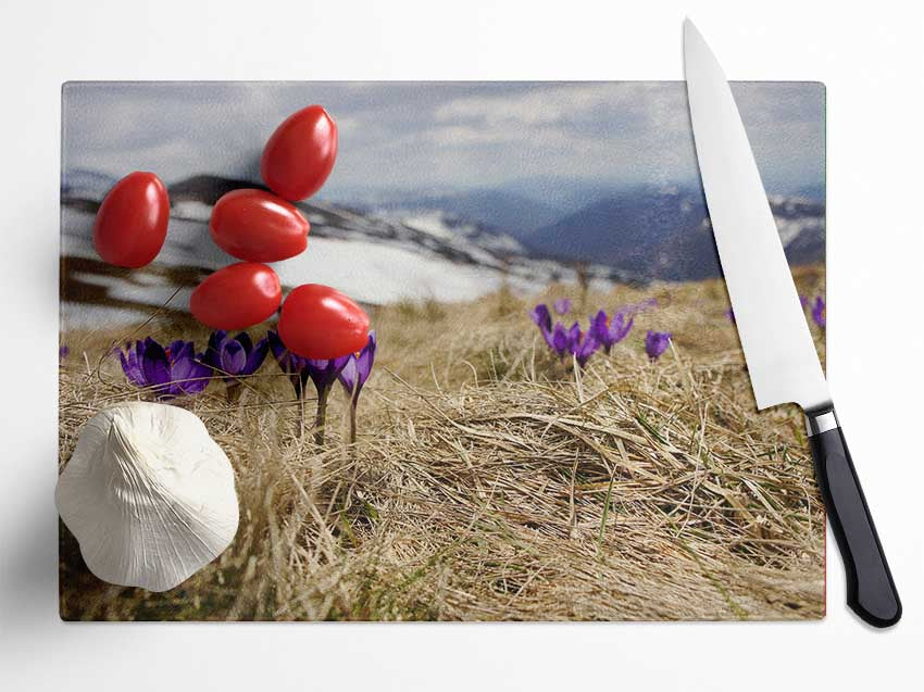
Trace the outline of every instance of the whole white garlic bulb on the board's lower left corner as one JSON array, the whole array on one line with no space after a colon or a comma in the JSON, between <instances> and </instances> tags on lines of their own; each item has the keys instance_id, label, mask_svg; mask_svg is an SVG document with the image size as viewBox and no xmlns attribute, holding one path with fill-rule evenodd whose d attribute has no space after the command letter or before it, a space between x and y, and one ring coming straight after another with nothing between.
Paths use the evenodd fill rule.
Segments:
<instances>
[{"instance_id":1,"label":"whole white garlic bulb on the board's lower left corner","mask_svg":"<svg viewBox=\"0 0 924 692\"><path fill-rule=\"evenodd\" d=\"M238 525L234 470L199 417L123 403L84 426L54 492L103 581L166 591L217 557Z\"/></svg>"}]
</instances>

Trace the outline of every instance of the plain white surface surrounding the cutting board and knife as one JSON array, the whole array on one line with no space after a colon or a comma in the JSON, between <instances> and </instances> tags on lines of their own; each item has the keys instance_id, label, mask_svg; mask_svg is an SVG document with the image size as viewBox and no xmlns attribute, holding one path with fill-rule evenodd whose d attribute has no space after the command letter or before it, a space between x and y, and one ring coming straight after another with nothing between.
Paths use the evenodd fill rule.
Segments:
<instances>
[{"instance_id":1,"label":"plain white surface surrounding the cutting board and knife","mask_svg":"<svg viewBox=\"0 0 924 692\"><path fill-rule=\"evenodd\" d=\"M895 690L920 683L924 27L913 4L3 0L0 685ZM828 375L904 602L897 628L874 631L850 615L834 552L822 622L59 620L52 489L62 81L680 79L687 14L729 78L827 85Z\"/></svg>"}]
</instances>

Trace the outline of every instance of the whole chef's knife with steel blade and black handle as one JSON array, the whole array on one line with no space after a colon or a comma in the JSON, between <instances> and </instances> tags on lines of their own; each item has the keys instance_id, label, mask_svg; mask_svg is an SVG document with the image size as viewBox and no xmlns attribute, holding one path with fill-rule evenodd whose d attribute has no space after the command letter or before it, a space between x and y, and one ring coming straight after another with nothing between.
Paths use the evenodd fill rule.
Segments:
<instances>
[{"instance_id":1,"label":"whole chef's knife with steel blade and black handle","mask_svg":"<svg viewBox=\"0 0 924 692\"><path fill-rule=\"evenodd\" d=\"M802 407L819 488L847 573L847 603L866 622L888 627L901 617L901 602L735 99L689 20L684 63L699 171L758 408L790 402Z\"/></svg>"}]
</instances>

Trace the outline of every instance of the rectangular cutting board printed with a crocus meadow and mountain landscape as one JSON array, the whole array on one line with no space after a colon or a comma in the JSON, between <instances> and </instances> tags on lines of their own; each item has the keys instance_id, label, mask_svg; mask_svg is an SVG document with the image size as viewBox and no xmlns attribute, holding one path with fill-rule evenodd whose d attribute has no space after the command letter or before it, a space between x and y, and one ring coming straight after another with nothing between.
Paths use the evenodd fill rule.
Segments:
<instances>
[{"instance_id":1,"label":"rectangular cutting board printed with a crocus meadow and mountain landscape","mask_svg":"<svg viewBox=\"0 0 924 692\"><path fill-rule=\"evenodd\" d=\"M823 87L733 90L824 357ZM337 164L274 268L367 311L374 348L339 379L275 319L238 337L188 312L232 260L212 206L262 187L266 138L310 103ZM162 593L97 579L62 524L63 618L824 615L802 416L756 410L682 83L72 83L63 121L59 464L99 411L163 401L204 422L240 508ZM120 269L92 224L132 171L167 185L170 228ZM223 339L252 355L233 377ZM143 357L197 376L151 381Z\"/></svg>"}]
</instances>

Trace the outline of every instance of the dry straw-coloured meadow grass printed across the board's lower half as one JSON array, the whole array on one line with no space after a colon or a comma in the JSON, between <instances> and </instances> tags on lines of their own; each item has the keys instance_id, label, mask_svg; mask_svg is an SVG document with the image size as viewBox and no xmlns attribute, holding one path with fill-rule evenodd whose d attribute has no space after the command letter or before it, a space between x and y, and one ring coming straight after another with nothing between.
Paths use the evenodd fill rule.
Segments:
<instances>
[{"instance_id":1,"label":"dry straw-coloured meadow grass printed across the board's lower half","mask_svg":"<svg viewBox=\"0 0 924 692\"><path fill-rule=\"evenodd\" d=\"M800 273L803 289L821 269ZM576 290L550 289L550 295ZM61 612L73 619L788 619L824 612L824 515L796 408L753 398L716 281L654 295L609 357L553 361L525 301L403 304L373 314L379 355L345 442L342 392L324 451L292 435L274 363L228 404L186 402L237 473L233 545L163 594L90 575L62 527ZM658 363L648 328L674 332ZM155 320L143 334L196 337ZM61 461L100 408L139 395L115 335L67 335ZM83 352L86 351L86 360Z\"/></svg>"}]
</instances>

